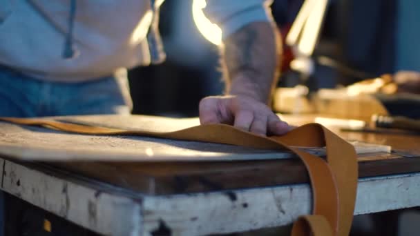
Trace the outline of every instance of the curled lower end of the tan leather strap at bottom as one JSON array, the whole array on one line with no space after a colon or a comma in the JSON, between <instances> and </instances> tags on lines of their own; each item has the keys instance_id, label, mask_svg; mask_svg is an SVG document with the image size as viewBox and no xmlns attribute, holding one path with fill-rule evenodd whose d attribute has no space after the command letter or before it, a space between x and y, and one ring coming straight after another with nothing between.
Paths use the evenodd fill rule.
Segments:
<instances>
[{"instance_id":1,"label":"curled lower end of the tan leather strap at bottom","mask_svg":"<svg viewBox=\"0 0 420 236\"><path fill-rule=\"evenodd\" d=\"M305 215L299 217L293 225L292 236L307 235L332 236L330 224L322 215Z\"/></svg>"}]
</instances>

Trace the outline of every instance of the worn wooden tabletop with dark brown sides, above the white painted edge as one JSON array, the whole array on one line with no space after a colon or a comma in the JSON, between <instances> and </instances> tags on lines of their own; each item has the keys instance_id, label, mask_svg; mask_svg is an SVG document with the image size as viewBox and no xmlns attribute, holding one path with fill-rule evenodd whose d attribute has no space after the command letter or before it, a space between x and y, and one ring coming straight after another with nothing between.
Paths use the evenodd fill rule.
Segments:
<instances>
[{"instance_id":1,"label":"worn wooden tabletop with dark brown sides, above the white painted edge","mask_svg":"<svg viewBox=\"0 0 420 236\"><path fill-rule=\"evenodd\" d=\"M95 119L72 117L71 119L72 121L77 119L80 123L87 122L102 126L140 129L153 127L155 130L162 131L178 130L198 124L197 119L158 119L145 116L102 116ZM312 122L314 116L284 116L283 119L291 124L301 125ZM336 128L332 130L347 140L390 145L394 150L408 153L407 156L420 155L418 145L420 136L403 135L399 132L341 132ZM49 148L45 148L46 144L50 144ZM50 159L41 163L44 168L63 170L71 175L97 179L149 195L197 193L309 181L305 168L298 159L284 159L284 157L290 157L287 153L221 144L146 137L73 135L44 128L0 123L0 146L1 157L44 155L46 159ZM4 147L7 147L7 151ZM77 161L51 161L57 153L60 153L64 159L75 158ZM146 159L150 157L149 160L147 162L133 161L140 154ZM115 161L114 158L118 155L131 159ZM84 157L87 161L83 160ZM95 157L105 160L109 158L109 161L92 161ZM189 161L153 161L153 158L159 160L159 158L167 159L168 157L186 158ZM213 161L191 161L191 158L196 157L213 159ZM249 161L246 160L247 157L252 159L260 157L261 160ZM218 159L220 161L215 161ZM227 159L231 161L221 161ZM404 157L401 153L374 153L359 157L360 177L419 171L419 157Z\"/></svg>"}]
</instances>

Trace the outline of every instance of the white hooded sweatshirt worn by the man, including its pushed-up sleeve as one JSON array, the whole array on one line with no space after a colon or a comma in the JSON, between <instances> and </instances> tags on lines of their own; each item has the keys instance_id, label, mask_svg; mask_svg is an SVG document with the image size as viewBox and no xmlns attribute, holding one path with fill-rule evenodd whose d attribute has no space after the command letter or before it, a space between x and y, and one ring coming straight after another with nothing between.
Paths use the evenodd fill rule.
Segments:
<instances>
[{"instance_id":1,"label":"white hooded sweatshirt worn by the man, including its pushed-up sleeve","mask_svg":"<svg viewBox=\"0 0 420 236\"><path fill-rule=\"evenodd\" d=\"M159 63L164 59L158 34L162 2L0 0L0 66L38 79L77 82ZM204 13L225 38L247 23L271 20L269 3L207 0Z\"/></svg>"}]
</instances>

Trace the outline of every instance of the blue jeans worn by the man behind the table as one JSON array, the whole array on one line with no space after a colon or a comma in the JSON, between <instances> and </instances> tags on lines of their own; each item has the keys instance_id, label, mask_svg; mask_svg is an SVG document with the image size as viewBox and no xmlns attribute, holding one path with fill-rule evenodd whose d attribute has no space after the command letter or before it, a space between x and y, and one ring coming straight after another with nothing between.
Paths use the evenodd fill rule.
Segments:
<instances>
[{"instance_id":1,"label":"blue jeans worn by the man behind the table","mask_svg":"<svg viewBox=\"0 0 420 236\"><path fill-rule=\"evenodd\" d=\"M126 71L81 83L42 81L0 66L0 116L129 114Z\"/></svg>"}]
</instances>

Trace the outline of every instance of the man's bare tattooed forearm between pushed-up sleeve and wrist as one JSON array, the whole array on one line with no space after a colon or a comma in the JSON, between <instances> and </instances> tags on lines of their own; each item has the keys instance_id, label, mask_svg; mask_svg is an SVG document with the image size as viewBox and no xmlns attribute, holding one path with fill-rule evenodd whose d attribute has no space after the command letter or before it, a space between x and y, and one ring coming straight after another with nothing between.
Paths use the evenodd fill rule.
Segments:
<instances>
[{"instance_id":1,"label":"man's bare tattooed forearm between pushed-up sleeve and wrist","mask_svg":"<svg viewBox=\"0 0 420 236\"><path fill-rule=\"evenodd\" d=\"M225 39L221 64L229 94L269 100L281 49L276 33L270 23L256 22Z\"/></svg>"}]
</instances>

